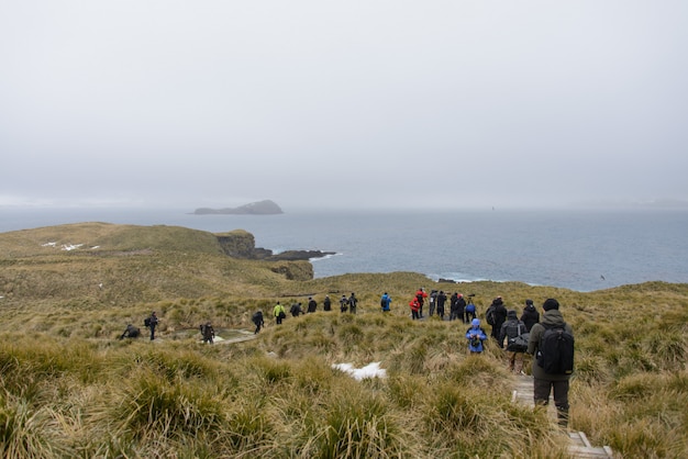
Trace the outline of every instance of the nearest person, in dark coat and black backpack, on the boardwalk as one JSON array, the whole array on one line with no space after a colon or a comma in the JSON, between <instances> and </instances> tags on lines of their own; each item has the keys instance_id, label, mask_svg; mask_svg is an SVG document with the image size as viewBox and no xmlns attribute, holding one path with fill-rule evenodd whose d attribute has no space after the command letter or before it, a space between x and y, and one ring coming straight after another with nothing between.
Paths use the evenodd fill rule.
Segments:
<instances>
[{"instance_id":1,"label":"nearest person, in dark coat and black backpack, on the boardwalk","mask_svg":"<svg viewBox=\"0 0 688 459\"><path fill-rule=\"evenodd\" d=\"M533 359L533 398L536 405L550 403L554 391L559 426L568 426L568 379L574 370L574 331L564 322L559 302L551 298L542 305L542 322L533 325L528 354Z\"/></svg>"}]
</instances>

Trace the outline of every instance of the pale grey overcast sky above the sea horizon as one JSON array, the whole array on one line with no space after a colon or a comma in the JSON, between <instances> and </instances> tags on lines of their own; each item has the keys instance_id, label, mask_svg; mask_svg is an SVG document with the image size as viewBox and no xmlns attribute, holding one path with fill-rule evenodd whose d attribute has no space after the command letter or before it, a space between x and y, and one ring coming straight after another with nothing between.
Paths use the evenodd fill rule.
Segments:
<instances>
[{"instance_id":1,"label":"pale grey overcast sky above the sea horizon","mask_svg":"<svg viewBox=\"0 0 688 459\"><path fill-rule=\"evenodd\" d=\"M688 201L688 2L0 0L0 206Z\"/></svg>"}]
</instances>

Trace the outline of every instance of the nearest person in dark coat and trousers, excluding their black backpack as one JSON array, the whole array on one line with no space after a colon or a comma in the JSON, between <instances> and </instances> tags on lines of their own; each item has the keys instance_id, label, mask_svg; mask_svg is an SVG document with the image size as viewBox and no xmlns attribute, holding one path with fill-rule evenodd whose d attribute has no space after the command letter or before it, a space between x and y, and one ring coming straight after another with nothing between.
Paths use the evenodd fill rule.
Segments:
<instances>
[{"instance_id":1,"label":"nearest person in dark coat and trousers, excluding their black backpack","mask_svg":"<svg viewBox=\"0 0 688 459\"><path fill-rule=\"evenodd\" d=\"M566 332L574 334L570 325L564 322L564 316L559 312L559 302L555 299L547 299L542 305L544 311L542 322L533 325L528 340L528 354L536 356L540 340L546 328L563 327ZM556 406L557 418L562 427L568 426L568 379L570 374L551 374L545 372L533 359L533 399L536 405L550 403L550 392L554 391L554 405Z\"/></svg>"}]
</instances>

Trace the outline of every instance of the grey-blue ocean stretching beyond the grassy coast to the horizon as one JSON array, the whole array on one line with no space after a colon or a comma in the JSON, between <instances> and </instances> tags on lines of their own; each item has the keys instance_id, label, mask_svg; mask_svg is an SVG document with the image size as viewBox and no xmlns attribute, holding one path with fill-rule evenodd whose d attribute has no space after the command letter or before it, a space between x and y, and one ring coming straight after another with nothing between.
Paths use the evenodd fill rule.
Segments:
<instances>
[{"instance_id":1,"label":"grey-blue ocean stretching beyond the grassy coast to the horizon","mask_svg":"<svg viewBox=\"0 0 688 459\"><path fill-rule=\"evenodd\" d=\"M430 279L521 281L593 291L645 281L688 282L688 212L298 211L195 215L174 209L0 209L0 232L78 222L246 229L276 253L317 249L317 278L414 271ZM78 243L78 242L73 242Z\"/></svg>"}]
</instances>

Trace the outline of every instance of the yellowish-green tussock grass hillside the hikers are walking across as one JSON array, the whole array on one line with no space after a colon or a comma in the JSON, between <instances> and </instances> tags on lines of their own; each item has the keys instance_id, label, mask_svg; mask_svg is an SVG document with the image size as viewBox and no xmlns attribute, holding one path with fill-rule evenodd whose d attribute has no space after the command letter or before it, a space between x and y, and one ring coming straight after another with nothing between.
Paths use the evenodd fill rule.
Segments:
<instances>
[{"instance_id":1,"label":"yellowish-green tussock grass hillside the hikers are walking across","mask_svg":"<svg viewBox=\"0 0 688 459\"><path fill-rule=\"evenodd\" d=\"M77 247L78 246L78 247ZM69 249L66 249L69 248ZM310 273L310 275L309 275ZM293 279L300 280L293 280ZM688 286L580 293L434 283L411 272L312 279L308 262L228 257L215 235L85 223L0 234L0 448L5 457L565 457L543 410L510 402L501 349L466 355L466 326L411 321L419 287L557 298L576 339L572 427L623 457L688 455ZM392 299L389 314L379 296ZM322 311L356 292L358 314ZM269 318L276 301L319 312ZM159 339L118 340L156 310ZM238 331L238 332L237 332ZM355 381L333 363L380 362Z\"/></svg>"}]
</instances>

